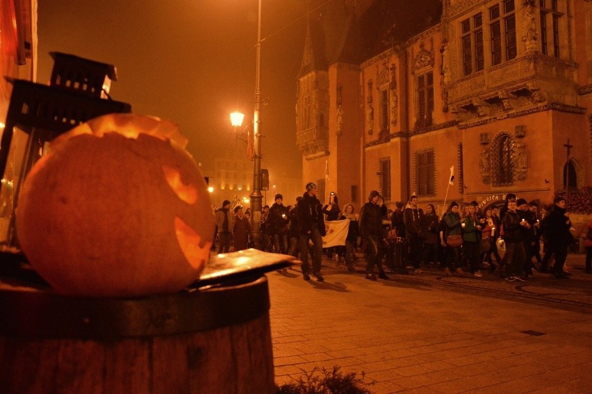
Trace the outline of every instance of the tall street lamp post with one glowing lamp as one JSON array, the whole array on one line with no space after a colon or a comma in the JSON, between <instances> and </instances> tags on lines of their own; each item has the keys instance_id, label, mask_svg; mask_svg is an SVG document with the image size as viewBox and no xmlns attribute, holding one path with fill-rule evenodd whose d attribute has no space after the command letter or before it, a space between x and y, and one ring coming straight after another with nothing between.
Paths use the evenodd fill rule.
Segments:
<instances>
[{"instance_id":1,"label":"tall street lamp post with one glowing lamp","mask_svg":"<svg viewBox=\"0 0 592 394\"><path fill-rule=\"evenodd\" d=\"M261 0L258 0L257 13L257 45L256 45L256 67L255 67L255 110L253 115L253 191L249 195L251 200L251 238L255 247L261 249L263 238L261 237ZM231 114L232 126L240 127L245 114L234 112ZM247 142L248 144L249 142Z\"/></svg>"}]
</instances>

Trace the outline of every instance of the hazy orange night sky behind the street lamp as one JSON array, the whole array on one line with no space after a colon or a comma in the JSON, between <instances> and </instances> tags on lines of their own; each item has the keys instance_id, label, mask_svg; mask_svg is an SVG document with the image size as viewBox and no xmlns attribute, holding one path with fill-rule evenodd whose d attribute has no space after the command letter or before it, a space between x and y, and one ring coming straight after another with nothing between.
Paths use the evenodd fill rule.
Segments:
<instances>
[{"instance_id":1,"label":"hazy orange night sky behind the street lamp","mask_svg":"<svg viewBox=\"0 0 592 394\"><path fill-rule=\"evenodd\" d=\"M323 1L313 2L313 6ZM264 167L301 176L295 145L296 76L306 0L263 0L261 120ZM134 113L176 122L204 168L228 145L235 108L251 122L257 0L38 0L38 82L60 51L117 67L110 95Z\"/></svg>"}]
</instances>

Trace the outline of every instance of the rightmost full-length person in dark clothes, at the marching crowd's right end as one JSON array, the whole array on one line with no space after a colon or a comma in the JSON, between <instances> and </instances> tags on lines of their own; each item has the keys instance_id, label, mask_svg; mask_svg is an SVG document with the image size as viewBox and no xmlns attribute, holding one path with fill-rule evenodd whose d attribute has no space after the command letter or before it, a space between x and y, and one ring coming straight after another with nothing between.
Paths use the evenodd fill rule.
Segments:
<instances>
[{"instance_id":1,"label":"rightmost full-length person in dark clothes, at the marching crowd's right end","mask_svg":"<svg viewBox=\"0 0 592 394\"><path fill-rule=\"evenodd\" d=\"M564 264L566 263L567 248L573 240L573 236L569 231L571 222L566 210L566 199L564 197L556 197L553 204L553 209L546 218L545 237L548 240L548 247L543 261L548 263L547 254L554 254L555 265L553 267L553 273L555 277L557 279L567 279L568 276L564 272ZM546 268L546 264L545 267L541 268Z\"/></svg>"}]
</instances>

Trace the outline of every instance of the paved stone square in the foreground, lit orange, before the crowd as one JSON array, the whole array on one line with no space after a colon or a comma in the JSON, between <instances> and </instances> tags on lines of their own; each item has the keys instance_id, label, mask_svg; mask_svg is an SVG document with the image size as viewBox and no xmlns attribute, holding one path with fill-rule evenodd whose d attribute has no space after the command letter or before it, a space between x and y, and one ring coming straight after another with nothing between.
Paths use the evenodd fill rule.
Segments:
<instances>
[{"instance_id":1,"label":"paved stone square in the foreground, lit orange, before the crowd","mask_svg":"<svg viewBox=\"0 0 592 394\"><path fill-rule=\"evenodd\" d=\"M315 368L356 372L372 393L592 393L592 275L507 282L422 274L364 278L323 261L268 274L277 384Z\"/></svg>"}]
</instances>

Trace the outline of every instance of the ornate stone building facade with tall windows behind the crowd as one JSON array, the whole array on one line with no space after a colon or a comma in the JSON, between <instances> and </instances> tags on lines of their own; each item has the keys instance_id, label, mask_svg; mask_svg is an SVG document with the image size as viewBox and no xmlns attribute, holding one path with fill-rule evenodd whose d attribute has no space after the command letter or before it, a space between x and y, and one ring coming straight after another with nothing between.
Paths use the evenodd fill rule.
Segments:
<instances>
[{"instance_id":1,"label":"ornate stone building facade with tall windows behind the crowd","mask_svg":"<svg viewBox=\"0 0 592 394\"><path fill-rule=\"evenodd\" d=\"M591 32L591 0L329 2L298 76L303 183L438 211L591 185Z\"/></svg>"}]
</instances>

